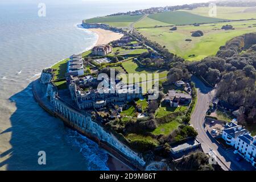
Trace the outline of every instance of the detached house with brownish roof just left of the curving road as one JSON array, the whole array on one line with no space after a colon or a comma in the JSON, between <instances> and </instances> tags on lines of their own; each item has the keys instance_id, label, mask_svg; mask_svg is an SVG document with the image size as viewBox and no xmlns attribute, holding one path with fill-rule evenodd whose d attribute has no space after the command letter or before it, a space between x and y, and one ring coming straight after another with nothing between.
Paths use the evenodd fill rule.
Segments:
<instances>
[{"instance_id":1,"label":"detached house with brownish roof just left of the curving road","mask_svg":"<svg viewBox=\"0 0 256 182\"><path fill-rule=\"evenodd\" d=\"M171 107L189 104L191 101L191 95L185 93L178 93L176 92L176 90L169 90L168 96L166 96L166 102L170 103Z\"/></svg>"}]
</instances>

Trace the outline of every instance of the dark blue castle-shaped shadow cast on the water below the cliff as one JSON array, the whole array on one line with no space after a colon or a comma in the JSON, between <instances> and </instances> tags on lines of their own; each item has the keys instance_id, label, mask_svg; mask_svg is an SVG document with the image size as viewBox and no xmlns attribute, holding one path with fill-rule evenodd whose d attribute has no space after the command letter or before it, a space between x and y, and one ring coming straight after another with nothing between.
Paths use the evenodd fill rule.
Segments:
<instances>
[{"instance_id":1,"label":"dark blue castle-shaped shadow cast on the water below the cliff","mask_svg":"<svg viewBox=\"0 0 256 182\"><path fill-rule=\"evenodd\" d=\"M91 140L63 125L34 100L32 84L14 96L16 110L10 116L12 148L0 154L0 167L7 170L96 170L108 169L108 156ZM46 165L38 164L38 152L46 152ZM9 155L9 156L8 156Z\"/></svg>"}]
</instances>

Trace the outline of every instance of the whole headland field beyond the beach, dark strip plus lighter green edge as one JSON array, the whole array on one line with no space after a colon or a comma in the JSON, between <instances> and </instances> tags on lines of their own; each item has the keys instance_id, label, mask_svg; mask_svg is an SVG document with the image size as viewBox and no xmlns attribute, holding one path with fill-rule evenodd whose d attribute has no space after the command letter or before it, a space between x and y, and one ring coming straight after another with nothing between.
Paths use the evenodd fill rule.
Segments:
<instances>
[{"instance_id":1,"label":"whole headland field beyond the beach, dark strip plus lighter green edge","mask_svg":"<svg viewBox=\"0 0 256 182\"><path fill-rule=\"evenodd\" d=\"M113 27L128 27L130 23L136 22L143 15L117 15L102 16L97 18L86 19L86 23L105 23Z\"/></svg>"}]
</instances>

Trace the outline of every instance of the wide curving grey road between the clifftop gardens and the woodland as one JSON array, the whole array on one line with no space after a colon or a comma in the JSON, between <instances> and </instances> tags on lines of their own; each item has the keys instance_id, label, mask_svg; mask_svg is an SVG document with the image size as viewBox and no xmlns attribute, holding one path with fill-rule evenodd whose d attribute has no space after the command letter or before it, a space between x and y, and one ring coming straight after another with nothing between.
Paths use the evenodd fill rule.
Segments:
<instances>
[{"instance_id":1,"label":"wide curving grey road between the clifftop gardens and the woodland","mask_svg":"<svg viewBox=\"0 0 256 182\"><path fill-rule=\"evenodd\" d=\"M241 164L234 160L234 156L230 152L218 145L215 139L207 134L204 128L204 118L207 113L209 103L212 100L212 93L214 90L208 88L198 78L192 77L197 89L197 103L195 110L191 115L191 125L196 129L198 135L197 139L200 141L205 154L213 152L216 156L217 163L225 171L240 171L243 170Z\"/></svg>"}]
</instances>

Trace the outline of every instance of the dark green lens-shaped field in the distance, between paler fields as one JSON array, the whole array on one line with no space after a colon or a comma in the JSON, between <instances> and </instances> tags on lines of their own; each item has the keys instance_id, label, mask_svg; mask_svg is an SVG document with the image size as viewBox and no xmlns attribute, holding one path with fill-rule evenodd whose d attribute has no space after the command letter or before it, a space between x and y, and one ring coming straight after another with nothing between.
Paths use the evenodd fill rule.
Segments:
<instances>
[{"instance_id":1,"label":"dark green lens-shaped field in the distance, between paler fields","mask_svg":"<svg viewBox=\"0 0 256 182\"><path fill-rule=\"evenodd\" d=\"M207 16L196 15L185 11L170 11L148 15L148 18L158 20L163 23L184 25L193 23L213 23L222 22L224 19L211 18Z\"/></svg>"}]
</instances>

